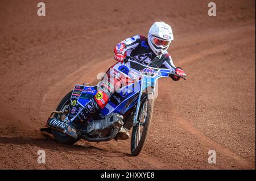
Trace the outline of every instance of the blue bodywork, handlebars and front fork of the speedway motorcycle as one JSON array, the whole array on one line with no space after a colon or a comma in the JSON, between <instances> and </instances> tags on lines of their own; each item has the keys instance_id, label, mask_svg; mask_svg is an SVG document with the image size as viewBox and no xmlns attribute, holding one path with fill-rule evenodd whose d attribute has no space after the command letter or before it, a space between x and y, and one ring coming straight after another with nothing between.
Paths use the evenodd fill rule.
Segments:
<instances>
[{"instance_id":1,"label":"blue bodywork, handlebars and front fork of the speedway motorcycle","mask_svg":"<svg viewBox=\"0 0 256 181\"><path fill-rule=\"evenodd\" d=\"M119 62L112 68L117 70L119 73L125 73L127 75L137 75L135 76L135 79L137 81L135 81L133 85L122 87L121 91L115 92L114 96L115 98L119 99L119 102L111 98L108 104L106 104L106 106L101 110L99 115L101 116L101 118L104 118L106 115L109 115L109 113L112 112L117 112L121 115L125 115L125 113L127 113L130 108L134 107L135 104L137 104L134 124L138 123L138 113L141 106L141 96L143 92L146 89L153 87L152 94L154 95L156 81L159 78L168 77L170 74L176 75L174 73L174 69L161 69L146 66L139 63L138 60L134 61L133 57L129 57L129 59L126 59L123 64ZM132 86L133 88L129 89L130 86ZM89 101L90 98L92 98L96 94L96 92L97 86L76 85L72 92L71 103L74 105L76 104L77 106L76 108L74 108L75 110L71 110L69 112L68 119L72 119L72 117L79 112L80 108L85 106L85 104Z\"/></svg>"}]
</instances>

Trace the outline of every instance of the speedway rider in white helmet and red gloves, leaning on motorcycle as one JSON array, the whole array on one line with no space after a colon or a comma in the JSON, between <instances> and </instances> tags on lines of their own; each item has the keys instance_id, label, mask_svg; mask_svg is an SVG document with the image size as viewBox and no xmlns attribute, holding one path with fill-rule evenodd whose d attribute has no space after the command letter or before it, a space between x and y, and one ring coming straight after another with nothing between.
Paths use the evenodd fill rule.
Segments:
<instances>
[{"instance_id":1,"label":"speedway rider in white helmet and red gloves, leaning on motorcycle","mask_svg":"<svg viewBox=\"0 0 256 181\"><path fill-rule=\"evenodd\" d=\"M167 52L171 41L174 40L172 28L164 22L155 22L148 36L135 35L121 41L114 48L114 59L123 62L126 56L135 57L141 64L148 65L151 62L159 65L159 68L173 69L177 75L183 76L185 72L174 65L170 54ZM73 138L77 138L77 132L92 116L100 112L106 106L113 90L117 90L118 81L109 81L111 71L107 71L106 79L103 78L97 85L97 94L82 108L76 117L71 119L71 124L65 129L65 133ZM179 81L180 77L170 75L174 81ZM117 134L117 139L126 140L129 138L129 128L122 127Z\"/></svg>"}]
</instances>

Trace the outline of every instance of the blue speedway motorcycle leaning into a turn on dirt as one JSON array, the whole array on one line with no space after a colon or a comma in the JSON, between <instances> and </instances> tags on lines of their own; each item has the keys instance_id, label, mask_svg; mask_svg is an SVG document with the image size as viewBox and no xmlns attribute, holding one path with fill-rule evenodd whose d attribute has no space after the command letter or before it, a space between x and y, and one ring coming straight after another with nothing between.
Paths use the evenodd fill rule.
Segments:
<instances>
[{"instance_id":1,"label":"blue speedway motorcycle leaning into a turn on dirt","mask_svg":"<svg viewBox=\"0 0 256 181\"><path fill-rule=\"evenodd\" d=\"M123 126L132 128L131 154L138 155L146 140L147 131L154 107L156 81L161 77L176 75L172 69L162 69L153 62L150 65L141 64L141 60L126 56L123 64L118 62L113 67L115 74L127 74L136 80L131 86L122 87L114 92L108 104L93 116L80 129L79 137L72 138L65 134L65 128L70 124L89 99L96 95L97 86L88 83L75 85L59 103L56 110L49 116L46 127L40 128L44 134L52 136L57 142L75 144L80 139L91 142L110 141L115 139ZM181 77L185 79L185 77Z\"/></svg>"}]
</instances>

